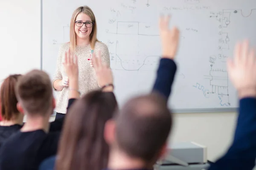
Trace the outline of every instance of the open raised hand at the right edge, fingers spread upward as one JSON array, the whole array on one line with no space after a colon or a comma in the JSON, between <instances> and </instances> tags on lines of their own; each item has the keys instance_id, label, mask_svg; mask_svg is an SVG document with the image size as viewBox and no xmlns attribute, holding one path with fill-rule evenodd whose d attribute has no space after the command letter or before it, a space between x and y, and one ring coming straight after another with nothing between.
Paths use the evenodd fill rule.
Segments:
<instances>
[{"instance_id":1,"label":"open raised hand at the right edge, fingers spread upward","mask_svg":"<svg viewBox=\"0 0 256 170\"><path fill-rule=\"evenodd\" d=\"M227 60L227 69L240 98L256 96L256 57L248 40L236 44L234 59Z\"/></svg>"}]
</instances>

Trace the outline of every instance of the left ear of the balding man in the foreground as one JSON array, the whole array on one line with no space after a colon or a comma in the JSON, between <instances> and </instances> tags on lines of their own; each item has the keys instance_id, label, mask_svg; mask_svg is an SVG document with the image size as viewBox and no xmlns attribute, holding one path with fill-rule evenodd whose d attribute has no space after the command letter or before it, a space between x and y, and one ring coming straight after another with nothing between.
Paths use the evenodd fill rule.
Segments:
<instances>
[{"instance_id":1,"label":"left ear of the balding man in the foreground","mask_svg":"<svg viewBox=\"0 0 256 170\"><path fill-rule=\"evenodd\" d=\"M109 145L115 142L115 136L116 136L115 134L116 134L116 123L114 120L108 120L105 123L104 138Z\"/></svg>"}]
</instances>

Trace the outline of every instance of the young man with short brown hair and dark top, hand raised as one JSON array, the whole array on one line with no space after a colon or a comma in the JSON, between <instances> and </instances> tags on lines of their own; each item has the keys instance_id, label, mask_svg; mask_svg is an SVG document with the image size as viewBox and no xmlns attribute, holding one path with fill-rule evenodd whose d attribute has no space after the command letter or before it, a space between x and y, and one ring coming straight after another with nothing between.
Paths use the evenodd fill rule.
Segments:
<instances>
[{"instance_id":1,"label":"young man with short brown hair and dark top, hand raised","mask_svg":"<svg viewBox=\"0 0 256 170\"><path fill-rule=\"evenodd\" d=\"M67 55L65 56L67 61ZM77 58L75 65L77 65ZM67 75L78 75L77 66L67 65ZM75 71L72 71L74 70ZM1 170L37 170L42 160L55 155L59 132L49 133L49 116L55 108L52 84L44 71L33 70L23 75L17 82L17 107L27 115L25 125L10 136L0 149ZM79 97L78 79L70 79L69 98ZM72 101L70 101L72 102Z\"/></svg>"}]
</instances>

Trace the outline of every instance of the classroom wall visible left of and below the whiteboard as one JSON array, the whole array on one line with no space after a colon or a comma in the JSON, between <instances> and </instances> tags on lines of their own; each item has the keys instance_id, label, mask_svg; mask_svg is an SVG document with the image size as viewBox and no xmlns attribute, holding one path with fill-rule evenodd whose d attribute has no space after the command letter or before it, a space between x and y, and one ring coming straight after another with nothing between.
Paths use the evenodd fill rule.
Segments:
<instances>
[{"instance_id":1,"label":"classroom wall visible left of and below the whiteboard","mask_svg":"<svg viewBox=\"0 0 256 170\"><path fill-rule=\"evenodd\" d=\"M40 0L0 0L0 79L40 68L40 8ZM236 113L177 113L174 117L172 142L205 145L211 161L232 140Z\"/></svg>"}]
</instances>

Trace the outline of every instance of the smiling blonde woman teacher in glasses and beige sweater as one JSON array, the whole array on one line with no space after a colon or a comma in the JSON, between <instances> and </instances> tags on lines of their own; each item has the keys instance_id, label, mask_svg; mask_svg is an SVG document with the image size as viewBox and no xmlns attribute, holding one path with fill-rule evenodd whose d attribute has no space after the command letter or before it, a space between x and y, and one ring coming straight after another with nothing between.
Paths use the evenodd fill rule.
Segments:
<instances>
[{"instance_id":1,"label":"smiling blonde woman teacher in glasses and beige sweater","mask_svg":"<svg viewBox=\"0 0 256 170\"><path fill-rule=\"evenodd\" d=\"M91 54L101 51L102 61L108 65L110 65L110 59L107 45L97 40L96 19L88 6L80 6L74 11L70 22L70 42L62 44L58 52L57 68L52 81L53 88L58 91L55 119L63 117L67 110L69 80L62 62L65 52L69 49L78 58L81 95L98 89L96 74L90 60Z\"/></svg>"}]
</instances>

